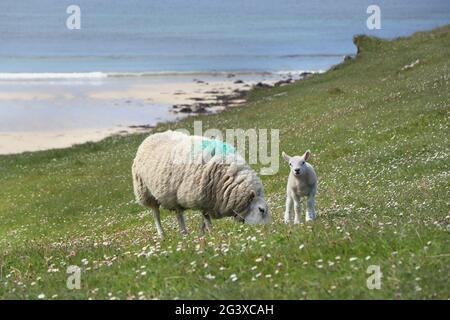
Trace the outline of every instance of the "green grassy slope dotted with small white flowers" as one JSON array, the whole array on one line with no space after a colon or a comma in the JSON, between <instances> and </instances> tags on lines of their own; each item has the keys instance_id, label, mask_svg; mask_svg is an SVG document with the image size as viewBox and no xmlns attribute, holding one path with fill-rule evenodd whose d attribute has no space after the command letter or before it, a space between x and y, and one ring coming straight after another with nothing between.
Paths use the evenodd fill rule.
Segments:
<instances>
[{"instance_id":1,"label":"green grassy slope dotted with small white flowers","mask_svg":"<svg viewBox=\"0 0 450 320\"><path fill-rule=\"evenodd\" d=\"M280 129L288 153L310 148L314 224L281 223L284 163L263 177L274 224L221 220L200 238L190 212L182 237L166 215L160 242L133 201L130 165L144 135L0 157L0 297L449 298L449 32L359 37L354 60L197 117L204 127ZM66 289L71 264L83 267L81 290ZM381 290L366 287L371 264Z\"/></svg>"}]
</instances>

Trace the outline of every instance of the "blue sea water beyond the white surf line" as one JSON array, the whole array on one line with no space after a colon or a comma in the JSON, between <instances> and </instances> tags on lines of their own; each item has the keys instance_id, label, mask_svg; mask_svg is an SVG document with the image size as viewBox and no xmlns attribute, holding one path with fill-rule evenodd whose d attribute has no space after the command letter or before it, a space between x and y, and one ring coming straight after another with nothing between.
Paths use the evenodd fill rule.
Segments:
<instances>
[{"instance_id":1,"label":"blue sea water beyond the white surf line","mask_svg":"<svg viewBox=\"0 0 450 320\"><path fill-rule=\"evenodd\" d=\"M79 30L66 27L71 4ZM0 73L321 70L356 52L355 34L447 23L448 0L2 0Z\"/></svg>"}]
</instances>

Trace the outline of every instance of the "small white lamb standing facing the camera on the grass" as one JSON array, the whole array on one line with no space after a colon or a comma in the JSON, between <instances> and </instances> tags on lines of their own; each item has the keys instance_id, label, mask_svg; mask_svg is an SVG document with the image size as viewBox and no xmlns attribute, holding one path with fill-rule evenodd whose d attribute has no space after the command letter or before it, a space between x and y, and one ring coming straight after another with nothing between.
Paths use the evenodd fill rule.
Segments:
<instances>
[{"instance_id":1,"label":"small white lamb standing facing the camera on the grass","mask_svg":"<svg viewBox=\"0 0 450 320\"><path fill-rule=\"evenodd\" d=\"M283 158L289 163L290 173L286 187L286 211L284 213L284 222L290 223L292 220L292 207L294 207L294 223L300 223L301 197L307 197L306 221L314 220L316 212L314 205L317 191L317 176L312 165L306 160L311 152L306 151L303 156L290 157L283 152Z\"/></svg>"}]
</instances>

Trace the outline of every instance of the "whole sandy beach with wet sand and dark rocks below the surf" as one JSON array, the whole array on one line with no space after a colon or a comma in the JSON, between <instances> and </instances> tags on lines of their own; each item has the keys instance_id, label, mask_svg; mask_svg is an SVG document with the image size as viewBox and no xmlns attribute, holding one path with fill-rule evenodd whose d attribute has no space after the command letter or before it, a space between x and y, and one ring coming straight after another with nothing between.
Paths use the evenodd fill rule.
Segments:
<instances>
[{"instance_id":1,"label":"whole sandy beach with wet sand and dark rocks below the surf","mask_svg":"<svg viewBox=\"0 0 450 320\"><path fill-rule=\"evenodd\" d=\"M65 148L220 112L245 102L244 93L258 83L274 85L281 78L286 76L1 83L0 154Z\"/></svg>"}]
</instances>

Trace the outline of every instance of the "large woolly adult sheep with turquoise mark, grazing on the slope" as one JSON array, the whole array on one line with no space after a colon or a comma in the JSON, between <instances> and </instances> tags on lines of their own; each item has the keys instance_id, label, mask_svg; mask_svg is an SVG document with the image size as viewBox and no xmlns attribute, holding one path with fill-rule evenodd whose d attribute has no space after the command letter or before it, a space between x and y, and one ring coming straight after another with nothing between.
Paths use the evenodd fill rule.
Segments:
<instances>
[{"instance_id":1,"label":"large woolly adult sheep with turquoise mark, grazing on the slope","mask_svg":"<svg viewBox=\"0 0 450 320\"><path fill-rule=\"evenodd\" d=\"M185 209L202 211L203 231L211 218L270 221L260 179L221 141L170 130L150 135L139 146L132 174L136 199L151 209L161 237L160 205L176 211L182 233Z\"/></svg>"}]
</instances>

